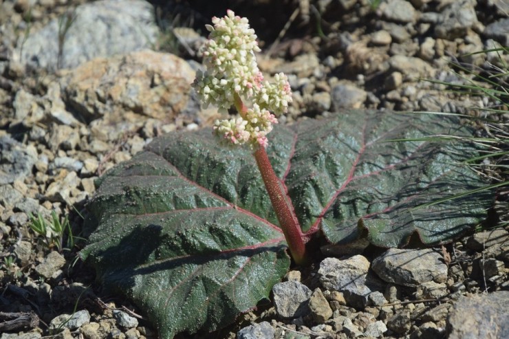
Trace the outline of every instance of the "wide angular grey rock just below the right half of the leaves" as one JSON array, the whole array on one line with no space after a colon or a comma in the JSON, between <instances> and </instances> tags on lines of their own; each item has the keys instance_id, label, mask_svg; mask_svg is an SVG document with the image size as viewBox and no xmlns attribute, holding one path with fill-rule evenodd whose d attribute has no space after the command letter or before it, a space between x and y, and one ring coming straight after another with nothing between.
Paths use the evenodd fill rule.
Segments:
<instances>
[{"instance_id":1,"label":"wide angular grey rock just below the right half of the leaves","mask_svg":"<svg viewBox=\"0 0 509 339\"><path fill-rule=\"evenodd\" d=\"M391 248L373 260L371 267L383 280L404 286L413 287L428 281L444 283L447 279L447 265L442 255L431 249Z\"/></svg>"}]
</instances>

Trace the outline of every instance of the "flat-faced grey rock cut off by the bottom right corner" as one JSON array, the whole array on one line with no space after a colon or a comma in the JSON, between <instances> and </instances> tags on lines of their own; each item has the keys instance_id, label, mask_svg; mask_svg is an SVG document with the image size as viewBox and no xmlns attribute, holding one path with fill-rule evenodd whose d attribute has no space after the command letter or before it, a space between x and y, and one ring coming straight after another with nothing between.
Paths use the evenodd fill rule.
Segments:
<instances>
[{"instance_id":1,"label":"flat-faced grey rock cut off by the bottom right corner","mask_svg":"<svg viewBox=\"0 0 509 339\"><path fill-rule=\"evenodd\" d=\"M449 339L509 338L509 291L460 298L447 318Z\"/></svg>"}]
</instances>

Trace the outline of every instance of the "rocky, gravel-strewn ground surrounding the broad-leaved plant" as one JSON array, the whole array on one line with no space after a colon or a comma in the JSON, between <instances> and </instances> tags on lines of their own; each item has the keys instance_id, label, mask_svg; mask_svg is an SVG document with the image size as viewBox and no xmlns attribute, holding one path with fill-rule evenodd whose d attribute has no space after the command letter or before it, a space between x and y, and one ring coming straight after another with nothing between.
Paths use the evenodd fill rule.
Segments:
<instances>
[{"instance_id":1,"label":"rocky, gravel-strewn ground surrounding the broad-leaved plant","mask_svg":"<svg viewBox=\"0 0 509 339\"><path fill-rule=\"evenodd\" d=\"M469 53L509 45L503 0L209 2L0 0L1 339L157 336L76 253L94 179L156 136L218 117L190 87L213 15L249 17L263 72L289 75L285 122L349 108L475 113L493 99L420 79L466 83L450 61L489 70L501 56ZM72 227L60 244L29 227L52 211ZM206 336L509 338L508 267L507 226L441 248L325 258Z\"/></svg>"}]
</instances>

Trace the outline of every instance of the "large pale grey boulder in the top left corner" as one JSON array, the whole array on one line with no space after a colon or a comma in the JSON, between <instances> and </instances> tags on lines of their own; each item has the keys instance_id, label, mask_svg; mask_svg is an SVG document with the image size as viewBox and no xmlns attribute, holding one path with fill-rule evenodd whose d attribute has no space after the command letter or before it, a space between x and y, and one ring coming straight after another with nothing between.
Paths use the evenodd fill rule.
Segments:
<instances>
[{"instance_id":1,"label":"large pale grey boulder in the top left corner","mask_svg":"<svg viewBox=\"0 0 509 339\"><path fill-rule=\"evenodd\" d=\"M147 1L94 1L30 32L13 55L30 67L74 68L98 56L149 48L157 36L153 8ZM19 39L25 39L23 34Z\"/></svg>"}]
</instances>

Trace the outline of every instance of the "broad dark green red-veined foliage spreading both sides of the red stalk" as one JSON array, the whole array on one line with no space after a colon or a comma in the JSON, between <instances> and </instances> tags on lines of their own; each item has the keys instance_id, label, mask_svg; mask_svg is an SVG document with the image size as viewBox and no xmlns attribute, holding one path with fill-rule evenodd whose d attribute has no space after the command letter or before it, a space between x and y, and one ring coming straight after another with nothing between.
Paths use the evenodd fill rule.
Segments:
<instances>
[{"instance_id":1,"label":"broad dark green red-veined foliage spreading both sides of the red stalk","mask_svg":"<svg viewBox=\"0 0 509 339\"><path fill-rule=\"evenodd\" d=\"M484 185L462 164L475 148L431 135L471 133L454 117L348 111L274 128L268 155L307 234L435 244L475 226L490 199L459 195ZM81 255L162 338L228 325L290 266L250 151L219 146L210 130L156 138L99 183Z\"/></svg>"}]
</instances>

